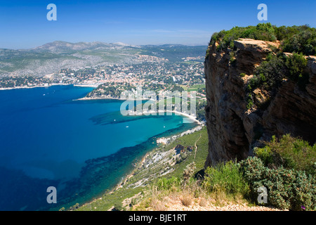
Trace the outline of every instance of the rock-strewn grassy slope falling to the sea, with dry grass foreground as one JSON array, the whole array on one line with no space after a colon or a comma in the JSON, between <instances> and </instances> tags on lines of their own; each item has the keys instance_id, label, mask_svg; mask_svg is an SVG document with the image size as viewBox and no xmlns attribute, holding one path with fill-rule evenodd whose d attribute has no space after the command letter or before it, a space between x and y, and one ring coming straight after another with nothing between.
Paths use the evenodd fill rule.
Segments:
<instances>
[{"instance_id":1,"label":"rock-strewn grassy slope falling to the sea, with dry grass foreground","mask_svg":"<svg viewBox=\"0 0 316 225\"><path fill-rule=\"evenodd\" d=\"M205 188L201 178L207 140L206 127L173 138L147 153L114 190L91 203L61 210L279 211L268 205L255 205L239 193L210 192ZM190 172L185 176L188 168Z\"/></svg>"}]
</instances>

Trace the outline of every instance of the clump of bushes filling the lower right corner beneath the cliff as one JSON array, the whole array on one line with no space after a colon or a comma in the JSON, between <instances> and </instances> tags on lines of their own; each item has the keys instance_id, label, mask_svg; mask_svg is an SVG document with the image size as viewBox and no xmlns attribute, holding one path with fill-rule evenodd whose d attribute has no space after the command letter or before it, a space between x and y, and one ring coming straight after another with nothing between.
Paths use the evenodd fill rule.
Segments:
<instances>
[{"instance_id":1,"label":"clump of bushes filling the lower right corner beneath the cliff","mask_svg":"<svg viewBox=\"0 0 316 225\"><path fill-rule=\"evenodd\" d=\"M316 145L291 137L272 136L263 148L255 148L256 157L239 162L249 184L251 199L258 187L268 188L268 203L281 209L315 210Z\"/></svg>"}]
</instances>

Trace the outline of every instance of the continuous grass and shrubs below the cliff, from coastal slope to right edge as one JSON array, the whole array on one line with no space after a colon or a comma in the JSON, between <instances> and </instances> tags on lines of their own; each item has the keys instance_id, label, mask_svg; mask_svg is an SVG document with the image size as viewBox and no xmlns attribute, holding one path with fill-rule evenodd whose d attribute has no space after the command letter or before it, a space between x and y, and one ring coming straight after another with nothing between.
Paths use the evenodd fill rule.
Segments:
<instances>
[{"instance_id":1,"label":"continuous grass and shrubs below the cliff, from coastal slope to right edge","mask_svg":"<svg viewBox=\"0 0 316 225\"><path fill-rule=\"evenodd\" d=\"M268 205L279 209L315 210L316 147L289 135L279 140L273 137L265 144L265 147L255 149L255 157L240 162L220 162L204 171L208 153L204 127L153 150L147 158L152 160L162 154L166 160L162 158L161 163L136 167L133 176L121 188L105 193L92 203L72 207L72 210L160 211L170 206L166 199L179 200L185 207L193 203L202 207L209 203L253 205L258 204L258 188L261 186L267 188ZM197 151L193 149L185 153L185 159L174 163L177 155L170 149L178 145L196 145ZM140 181L145 182L136 185L142 184Z\"/></svg>"}]
</instances>

